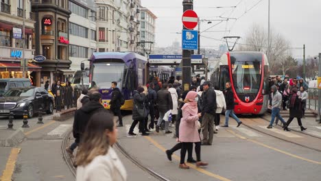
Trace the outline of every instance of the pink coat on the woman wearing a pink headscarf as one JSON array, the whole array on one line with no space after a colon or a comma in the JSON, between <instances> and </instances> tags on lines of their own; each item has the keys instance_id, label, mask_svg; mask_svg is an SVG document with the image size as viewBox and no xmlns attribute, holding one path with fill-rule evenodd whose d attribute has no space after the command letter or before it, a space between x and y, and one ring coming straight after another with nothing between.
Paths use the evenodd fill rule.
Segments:
<instances>
[{"instance_id":1,"label":"pink coat on the woman wearing a pink headscarf","mask_svg":"<svg viewBox=\"0 0 321 181\"><path fill-rule=\"evenodd\" d=\"M182 110L182 119L180 119L179 141L196 143L200 142L198 133L198 114L192 115L187 110Z\"/></svg>"}]
</instances>

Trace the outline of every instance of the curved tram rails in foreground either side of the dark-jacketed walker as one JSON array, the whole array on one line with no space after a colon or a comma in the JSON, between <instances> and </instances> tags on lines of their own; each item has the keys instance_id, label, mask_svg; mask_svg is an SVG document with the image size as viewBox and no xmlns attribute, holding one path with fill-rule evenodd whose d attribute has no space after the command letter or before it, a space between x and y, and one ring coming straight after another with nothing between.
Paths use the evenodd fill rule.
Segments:
<instances>
[{"instance_id":1,"label":"curved tram rails in foreground either side of the dark-jacketed walker","mask_svg":"<svg viewBox=\"0 0 321 181\"><path fill-rule=\"evenodd\" d=\"M64 138L62 139L61 149L62 149L62 156L63 156L65 162L67 163L67 166L69 167L73 176L76 176L76 168L73 166L73 159L69 156L69 154L66 151L66 147L69 146L68 140L70 140L71 133L72 133L72 130L69 130L67 132L67 134L65 134ZM141 162L139 162L139 160L137 160L136 158L134 158L133 156L128 154L126 149L124 149L119 143L115 143L115 147L117 147L117 149L119 149L119 151L121 152L121 154L123 154L123 156L125 156L128 160L130 160L132 163L134 163L134 165L136 165L137 167L139 167L143 171L149 173L151 176L153 176L157 180L169 181L167 178L161 176L159 173L156 173L152 169L146 167Z\"/></svg>"}]
</instances>

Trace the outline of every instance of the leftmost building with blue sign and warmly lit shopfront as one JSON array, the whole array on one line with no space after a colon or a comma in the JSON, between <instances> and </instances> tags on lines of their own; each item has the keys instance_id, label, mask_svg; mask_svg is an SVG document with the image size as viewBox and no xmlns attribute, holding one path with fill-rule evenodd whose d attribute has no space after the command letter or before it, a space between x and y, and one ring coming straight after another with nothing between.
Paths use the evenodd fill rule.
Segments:
<instances>
[{"instance_id":1,"label":"leftmost building with blue sign and warmly lit shopfront","mask_svg":"<svg viewBox=\"0 0 321 181\"><path fill-rule=\"evenodd\" d=\"M34 59L34 21L32 21L31 3L23 0L2 0L0 5L0 78L24 77L21 62L25 58L25 77L36 83L40 67L32 64ZM25 9L25 15L23 15ZM23 19L25 16L25 19ZM25 28L23 31L23 21ZM23 37L23 32L25 36ZM23 48L24 44L24 48ZM24 55L23 55L24 54Z\"/></svg>"}]
</instances>

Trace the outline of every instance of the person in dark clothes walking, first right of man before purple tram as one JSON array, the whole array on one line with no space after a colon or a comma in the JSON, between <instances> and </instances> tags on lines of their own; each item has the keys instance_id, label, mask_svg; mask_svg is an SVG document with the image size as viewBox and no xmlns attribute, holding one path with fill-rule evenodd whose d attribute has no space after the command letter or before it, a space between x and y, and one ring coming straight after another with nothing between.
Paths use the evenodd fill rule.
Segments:
<instances>
[{"instance_id":1,"label":"person in dark clothes walking, first right of man before purple tram","mask_svg":"<svg viewBox=\"0 0 321 181\"><path fill-rule=\"evenodd\" d=\"M134 128L137 125L137 123L139 123L139 130L141 130L141 135L142 136L148 136L150 134L148 134L145 131L144 125L145 125L145 117L147 116L147 114L145 115L141 115L141 113L145 113L145 112L140 112L139 110L143 110L145 108L145 97L147 95L147 91L144 90L144 88L142 86L139 86L139 88L137 88L136 91L134 91L134 105L132 107L132 120L134 120L132 122L132 125L130 126L130 130L128 132L129 135L136 135L134 133Z\"/></svg>"}]
</instances>

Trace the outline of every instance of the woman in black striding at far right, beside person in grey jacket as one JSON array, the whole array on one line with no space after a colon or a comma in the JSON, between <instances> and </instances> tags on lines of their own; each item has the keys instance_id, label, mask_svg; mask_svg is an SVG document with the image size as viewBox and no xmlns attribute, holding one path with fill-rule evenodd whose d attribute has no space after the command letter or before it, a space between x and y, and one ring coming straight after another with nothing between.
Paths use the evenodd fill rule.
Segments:
<instances>
[{"instance_id":1,"label":"woman in black striding at far right, beside person in grey jacket","mask_svg":"<svg viewBox=\"0 0 321 181\"><path fill-rule=\"evenodd\" d=\"M302 104L298 97L298 89L292 88L292 95L289 97L289 119L287 120L287 124L284 128L284 130L289 132L289 129L287 128L289 124L292 122L294 117L298 119L298 125L300 125L301 131L307 130L307 128L304 128L302 125Z\"/></svg>"}]
</instances>

